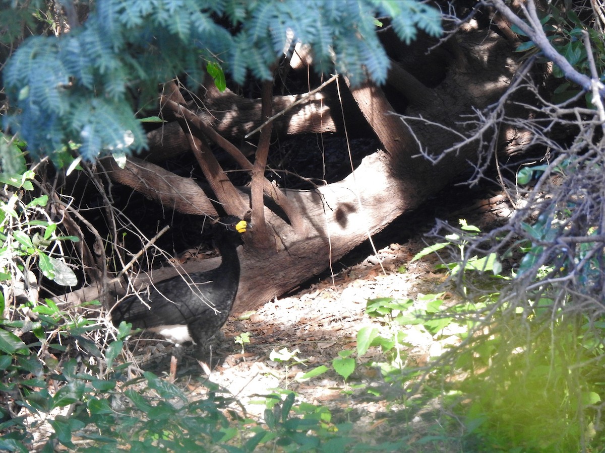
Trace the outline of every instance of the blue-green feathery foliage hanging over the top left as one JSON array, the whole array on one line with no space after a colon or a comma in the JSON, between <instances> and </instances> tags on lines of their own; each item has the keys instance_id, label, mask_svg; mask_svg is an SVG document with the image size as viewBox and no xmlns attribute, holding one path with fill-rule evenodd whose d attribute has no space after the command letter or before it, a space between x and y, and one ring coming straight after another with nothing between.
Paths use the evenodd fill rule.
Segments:
<instances>
[{"instance_id":1,"label":"blue-green feathery foliage hanging over the top left","mask_svg":"<svg viewBox=\"0 0 605 453\"><path fill-rule=\"evenodd\" d=\"M70 141L88 160L143 149L135 109L176 75L200 83L208 62L238 83L249 73L267 80L300 41L312 47L318 71L384 83L377 17L390 17L407 42L417 28L441 30L439 11L416 0L100 0L91 8L69 33L26 40L4 71L13 106L4 127L21 133L34 156Z\"/></svg>"}]
</instances>

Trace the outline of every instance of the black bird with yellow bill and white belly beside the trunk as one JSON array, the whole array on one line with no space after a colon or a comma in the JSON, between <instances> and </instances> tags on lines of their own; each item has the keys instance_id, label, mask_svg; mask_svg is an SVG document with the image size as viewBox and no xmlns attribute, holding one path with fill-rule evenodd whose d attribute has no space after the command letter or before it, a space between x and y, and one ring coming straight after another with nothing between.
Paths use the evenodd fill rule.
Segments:
<instances>
[{"instance_id":1,"label":"black bird with yellow bill and white belly beside the trunk","mask_svg":"<svg viewBox=\"0 0 605 453\"><path fill-rule=\"evenodd\" d=\"M125 298L111 311L114 325L126 321L134 329L151 330L176 344L204 344L223 326L233 306L240 283L236 249L247 227L235 216L219 220L213 239L221 254L220 266L160 281L145 294Z\"/></svg>"}]
</instances>

